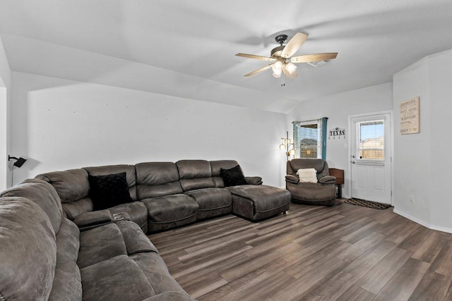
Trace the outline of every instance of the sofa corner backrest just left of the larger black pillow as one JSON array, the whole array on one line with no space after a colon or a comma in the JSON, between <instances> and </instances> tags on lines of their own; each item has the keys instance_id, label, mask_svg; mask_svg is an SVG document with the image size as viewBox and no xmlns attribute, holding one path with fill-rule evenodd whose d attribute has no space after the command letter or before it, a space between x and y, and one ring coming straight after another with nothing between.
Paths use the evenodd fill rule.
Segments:
<instances>
[{"instance_id":1,"label":"sofa corner backrest just left of the larger black pillow","mask_svg":"<svg viewBox=\"0 0 452 301\"><path fill-rule=\"evenodd\" d=\"M90 183L88 173L83 168L67 171L52 171L36 176L53 185L63 204L64 213L73 220L79 214L93 211L93 202L88 194Z\"/></svg>"}]
</instances>

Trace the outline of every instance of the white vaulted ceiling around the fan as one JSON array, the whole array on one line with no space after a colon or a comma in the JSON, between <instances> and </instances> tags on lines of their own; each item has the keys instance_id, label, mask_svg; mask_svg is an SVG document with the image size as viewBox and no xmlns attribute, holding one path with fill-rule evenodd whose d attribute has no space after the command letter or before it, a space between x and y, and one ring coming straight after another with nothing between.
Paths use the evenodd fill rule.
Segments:
<instances>
[{"instance_id":1,"label":"white vaulted ceiling around the fan","mask_svg":"<svg viewBox=\"0 0 452 301\"><path fill-rule=\"evenodd\" d=\"M274 37L309 34L297 54L338 52L244 78ZM451 0L0 0L0 34L11 70L212 102L287 112L299 102L390 82L452 49ZM219 95L220 94L220 95Z\"/></svg>"}]
</instances>

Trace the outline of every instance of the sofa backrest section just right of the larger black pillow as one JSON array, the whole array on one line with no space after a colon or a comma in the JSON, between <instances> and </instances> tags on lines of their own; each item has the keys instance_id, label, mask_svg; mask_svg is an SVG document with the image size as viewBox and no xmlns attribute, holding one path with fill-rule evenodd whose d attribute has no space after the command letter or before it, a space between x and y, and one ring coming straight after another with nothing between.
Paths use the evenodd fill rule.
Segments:
<instances>
[{"instance_id":1,"label":"sofa backrest section just right of the larger black pillow","mask_svg":"<svg viewBox=\"0 0 452 301\"><path fill-rule=\"evenodd\" d=\"M179 172L172 162L144 162L135 165L138 199L182 193Z\"/></svg>"}]
</instances>

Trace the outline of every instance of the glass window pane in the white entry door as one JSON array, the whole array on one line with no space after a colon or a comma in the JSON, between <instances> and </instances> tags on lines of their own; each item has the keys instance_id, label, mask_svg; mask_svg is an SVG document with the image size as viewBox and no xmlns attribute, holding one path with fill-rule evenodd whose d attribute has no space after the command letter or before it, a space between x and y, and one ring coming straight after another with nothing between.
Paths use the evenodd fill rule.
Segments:
<instances>
[{"instance_id":1,"label":"glass window pane in the white entry door","mask_svg":"<svg viewBox=\"0 0 452 301\"><path fill-rule=\"evenodd\" d=\"M384 161L384 121L361 121L356 126L358 159Z\"/></svg>"}]
</instances>

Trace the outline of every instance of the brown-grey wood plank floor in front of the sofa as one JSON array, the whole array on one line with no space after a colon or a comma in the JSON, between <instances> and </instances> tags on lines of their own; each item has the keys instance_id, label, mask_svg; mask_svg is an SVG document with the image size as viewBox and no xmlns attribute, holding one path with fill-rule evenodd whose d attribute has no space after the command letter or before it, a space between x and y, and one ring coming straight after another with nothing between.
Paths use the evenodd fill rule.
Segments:
<instances>
[{"instance_id":1,"label":"brown-grey wood plank floor in front of the sofa","mask_svg":"<svg viewBox=\"0 0 452 301\"><path fill-rule=\"evenodd\" d=\"M169 272L203 300L452 300L452 234L339 202L290 204L149 235Z\"/></svg>"}]
</instances>

